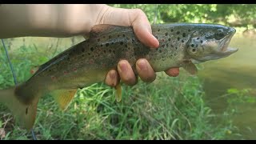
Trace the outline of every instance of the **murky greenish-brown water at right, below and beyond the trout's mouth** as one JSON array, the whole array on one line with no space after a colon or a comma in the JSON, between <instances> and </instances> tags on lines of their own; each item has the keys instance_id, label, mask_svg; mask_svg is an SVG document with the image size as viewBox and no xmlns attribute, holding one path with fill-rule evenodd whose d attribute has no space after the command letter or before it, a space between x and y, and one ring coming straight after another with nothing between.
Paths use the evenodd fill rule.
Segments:
<instances>
[{"instance_id":1,"label":"murky greenish-brown water at right, below and beyond the trout's mouth","mask_svg":"<svg viewBox=\"0 0 256 144\"><path fill-rule=\"evenodd\" d=\"M228 89L255 90L256 86L256 39L235 35L230 46L238 47L238 52L228 58L205 62L204 70L198 74L204 82L206 102L217 114L226 110L227 98L222 95ZM256 97L256 94L252 95ZM239 104L238 109L242 113L232 118L234 124L241 130L243 138L256 139L256 104Z\"/></svg>"}]
</instances>

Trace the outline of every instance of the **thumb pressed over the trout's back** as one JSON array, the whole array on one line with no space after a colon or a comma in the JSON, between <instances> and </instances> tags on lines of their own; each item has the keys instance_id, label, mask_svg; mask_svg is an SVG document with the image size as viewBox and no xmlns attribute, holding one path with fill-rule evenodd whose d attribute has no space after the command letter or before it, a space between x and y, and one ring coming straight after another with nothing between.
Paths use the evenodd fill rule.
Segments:
<instances>
[{"instance_id":1,"label":"thumb pressed over the trout's back","mask_svg":"<svg viewBox=\"0 0 256 144\"><path fill-rule=\"evenodd\" d=\"M146 14L142 10L130 10L130 22L134 28L138 40L151 48L159 46L158 39L152 34L150 22L146 18Z\"/></svg>"}]
</instances>

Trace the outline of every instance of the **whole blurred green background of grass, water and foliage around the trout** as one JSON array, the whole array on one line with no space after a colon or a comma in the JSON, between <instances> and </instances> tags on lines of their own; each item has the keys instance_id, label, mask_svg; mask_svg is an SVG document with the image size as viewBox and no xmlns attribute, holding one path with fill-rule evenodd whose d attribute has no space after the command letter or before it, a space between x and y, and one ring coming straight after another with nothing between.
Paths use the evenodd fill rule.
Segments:
<instances>
[{"instance_id":1,"label":"whole blurred green background of grass, water and foliage around the trout","mask_svg":"<svg viewBox=\"0 0 256 144\"><path fill-rule=\"evenodd\" d=\"M123 86L122 102L104 83L78 90L66 112L54 98L38 104L34 131L38 139L256 139L256 5L250 4L112 4L142 9L150 23L196 22L233 26L228 58L198 65L191 77L181 69L177 78L158 73L156 81ZM84 39L5 39L18 82L30 78L32 66L42 65ZM14 86L0 46L0 88ZM32 139L6 106L0 105L0 138Z\"/></svg>"}]
</instances>

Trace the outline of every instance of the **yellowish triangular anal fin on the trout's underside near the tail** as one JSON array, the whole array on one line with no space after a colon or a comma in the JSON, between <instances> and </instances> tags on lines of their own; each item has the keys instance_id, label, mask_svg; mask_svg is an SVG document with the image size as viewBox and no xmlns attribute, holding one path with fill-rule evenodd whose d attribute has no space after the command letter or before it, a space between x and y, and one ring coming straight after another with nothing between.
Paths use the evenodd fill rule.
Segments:
<instances>
[{"instance_id":1,"label":"yellowish triangular anal fin on the trout's underside near the tail","mask_svg":"<svg viewBox=\"0 0 256 144\"><path fill-rule=\"evenodd\" d=\"M67 106L70 104L71 100L74 98L77 89L70 90L54 90L51 94L54 95L55 100L58 102L58 106L62 110L66 110Z\"/></svg>"}]
</instances>

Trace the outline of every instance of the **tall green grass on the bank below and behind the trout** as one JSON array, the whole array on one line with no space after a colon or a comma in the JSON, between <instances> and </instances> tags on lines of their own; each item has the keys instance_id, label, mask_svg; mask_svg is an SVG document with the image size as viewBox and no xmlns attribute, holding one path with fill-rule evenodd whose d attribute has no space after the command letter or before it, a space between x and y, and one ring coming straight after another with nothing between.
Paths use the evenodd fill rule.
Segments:
<instances>
[{"instance_id":1,"label":"tall green grass on the bank below and behind the trout","mask_svg":"<svg viewBox=\"0 0 256 144\"><path fill-rule=\"evenodd\" d=\"M2 50L2 47L0 47ZM21 47L12 53L18 82L30 78L30 68L46 62L48 54L40 48ZM50 52L48 52L50 54ZM5 55L0 57L0 87L14 86ZM156 81L122 86L122 101L103 83L78 90L69 108L58 109L54 98L46 95L38 103L34 132L38 139L225 139L234 126L216 123L216 116L204 102L202 82L185 71L177 78L158 73ZM2 139L32 139L30 131L15 125L0 105ZM0 135L1 138L1 135Z\"/></svg>"}]
</instances>

